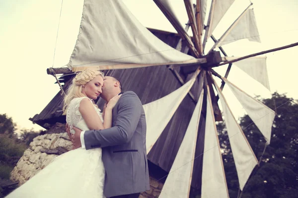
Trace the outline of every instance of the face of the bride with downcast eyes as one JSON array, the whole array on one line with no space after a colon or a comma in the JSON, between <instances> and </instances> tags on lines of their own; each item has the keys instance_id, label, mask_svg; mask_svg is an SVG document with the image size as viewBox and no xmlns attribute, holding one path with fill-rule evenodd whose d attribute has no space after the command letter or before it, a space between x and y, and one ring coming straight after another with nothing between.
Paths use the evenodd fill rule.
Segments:
<instances>
[{"instance_id":1,"label":"face of the bride with downcast eyes","mask_svg":"<svg viewBox=\"0 0 298 198\"><path fill-rule=\"evenodd\" d=\"M96 76L91 81L86 83L83 87L83 94L85 94L89 99L97 99L101 94L103 85L103 79L101 76Z\"/></svg>"}]
</instances>

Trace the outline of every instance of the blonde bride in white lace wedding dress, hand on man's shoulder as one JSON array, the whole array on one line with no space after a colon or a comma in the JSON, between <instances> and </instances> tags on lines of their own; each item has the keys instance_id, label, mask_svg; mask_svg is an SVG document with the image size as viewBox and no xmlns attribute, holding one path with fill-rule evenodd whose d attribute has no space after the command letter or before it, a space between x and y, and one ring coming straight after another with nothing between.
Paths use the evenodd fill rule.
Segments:
<instances>
[{"instance_id":1,"label":"blonde bride in white lace wedding dress, hand on man's shoulder","mask_svg":"<svg viewBox=\"0 0 298 198\"><path fill-rule=\"evenodd\" d=\"M109 100L101 113L92 99L101 94L102 85L103 74L96 70L86 69L73 79L63 107L71 133L73 126L81 130L111 128L112 109L120 96ZM92 124L94 119L98 120L97 125ZM57 156L6 198L105 198L101 154L101 148L76 148Z\"/></svg>"}]
</instances>

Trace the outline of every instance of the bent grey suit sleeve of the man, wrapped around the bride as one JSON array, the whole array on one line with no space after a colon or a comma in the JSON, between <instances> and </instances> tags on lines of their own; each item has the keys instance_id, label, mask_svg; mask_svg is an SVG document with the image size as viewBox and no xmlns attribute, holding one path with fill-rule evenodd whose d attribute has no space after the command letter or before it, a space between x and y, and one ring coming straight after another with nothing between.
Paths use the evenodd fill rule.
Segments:
<instances>
[{"instance_id":1,"label":"bent grey suit sleeve of the man, wrapped around the bride","mask_svg":"<svg viewBox=\"0 0 298 198\"><path fill-rule=\"evenodd\" d=\"M99 148L125 144L131 141L142 113L138 96L130 92L119 99L115 126L84 133L85 148Z\"/></svg>"}]
</instances>

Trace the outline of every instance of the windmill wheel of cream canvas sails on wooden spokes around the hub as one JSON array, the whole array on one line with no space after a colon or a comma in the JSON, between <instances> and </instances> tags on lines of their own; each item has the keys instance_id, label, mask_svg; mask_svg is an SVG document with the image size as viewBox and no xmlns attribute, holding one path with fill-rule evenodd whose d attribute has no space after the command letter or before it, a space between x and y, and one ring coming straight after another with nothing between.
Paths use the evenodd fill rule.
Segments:
<instances>
[{"instance_id":1,"label":"windmill wheel of cream canvas sails on wooden spokes around the hub","mask_svg":"<svg viewBox=\"0 0 298 198\"><path fill-rule=\"evenodd\" d=\"M167 65L182 86L173 93L144 105L148 124L148 152L186 95L196 103L196 107L159 197L189 196L198 147L201 153L204 153L202 155L202 197L219 195L228 197L215 124L216 121L222 120L218 101L222 104L241 190L253 168L258 164L258 159L224 98L222 93L224 86L229 86L264 135L267 144L270 143L271 126L275 116L274 111L227 80L232 63L235 62L237 67L269 89L265 57L257 55L297 46L298 43L243 57L230 57L222 47L225 44L244 38L259 42L252 3L217 40L212 33L234 0L212 0L206 26L204 19L207 0L197 0L195 6L191 0L184 0L189 18L186 27L178 21L170 0L153 1L181 37L176 49L167 46L152 35L122 1L85 0L78 38L70 62L67 68L49 68L48 74L54 76L71 74L89 67L111 70ZM240 31L243 27L250 31ZM192 30L193 37L187 33L189 28ZM210 39L215 44L207 51L206 43ZM186 47L183 47L182 43L186 44ZM223 76L213 69L226 64L228 67ZM251 65L254 67L250 67ZM181 76L181 70L184 74L187 73L186 77ZM222 80L221 86L216 83L213 76ZM196 94L192 89L195 83ZM202 138L202 145L197 145L198 138ZM175 186L179 188L173 188ZM217 191L214 191L214 188Z\"/></svg>"}]
</instances>

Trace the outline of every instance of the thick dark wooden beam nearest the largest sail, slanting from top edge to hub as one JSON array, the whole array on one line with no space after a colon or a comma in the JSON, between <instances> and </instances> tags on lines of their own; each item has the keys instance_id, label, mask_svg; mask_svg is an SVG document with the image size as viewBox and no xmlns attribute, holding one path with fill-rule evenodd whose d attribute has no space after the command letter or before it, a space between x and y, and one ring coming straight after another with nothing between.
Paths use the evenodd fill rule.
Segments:
<instances>
[{"instance_id":1,"label":"thick dark wooden beam nearest the largest sail, slanting from top edge to hub","mask_svg":"<svg viewBox=\"0 0 298 198\"><path fill-rule=\"evenodd\" d=\"M159 9L162 11L162 13L165 15L165 17L170 21L170 23L173 25L173 27L176 29L180 37L186 41L187 46L189 49L194 53L194 55L198 58L199 52L195 48L190 36L187 34L187 32L181 27L179 21L175 19L175 17L167 10L165 6L160 2L160 0L153 0L155 4L159 7Z\"/></svg>"}]
</instances>

